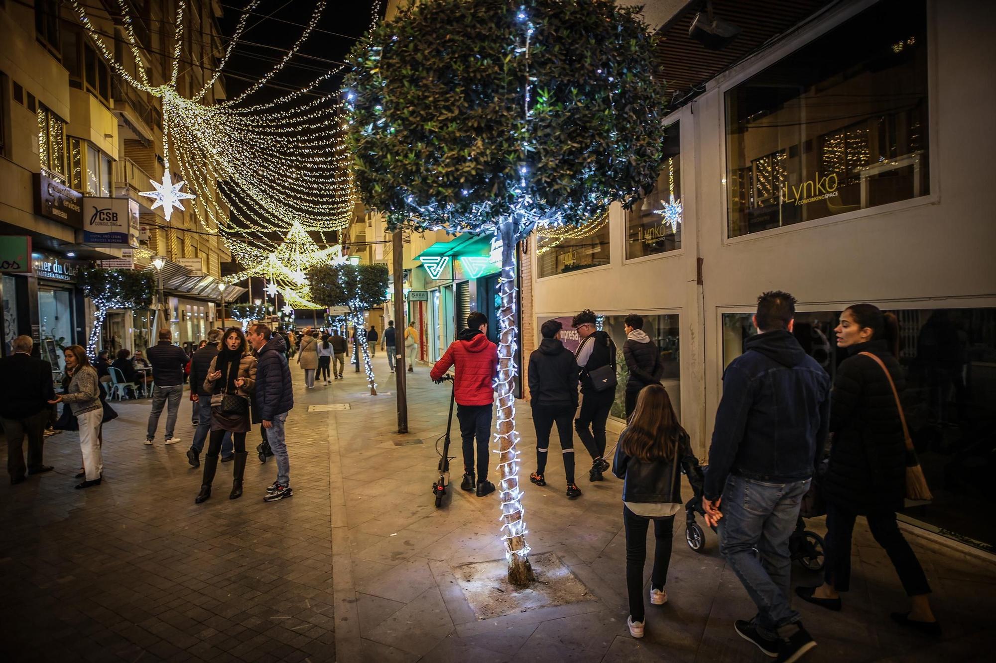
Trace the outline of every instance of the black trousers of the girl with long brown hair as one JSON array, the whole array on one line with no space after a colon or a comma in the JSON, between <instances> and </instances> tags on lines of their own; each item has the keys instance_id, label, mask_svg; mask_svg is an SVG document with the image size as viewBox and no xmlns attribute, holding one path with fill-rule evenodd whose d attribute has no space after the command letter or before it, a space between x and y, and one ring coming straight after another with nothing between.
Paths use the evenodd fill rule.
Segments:
<instances>
[{"instance_id":1,"label":"black trousers of the girl with long brown hair","mask_svg":"<svg viewBox=\"0 0 996 663\"><path fill-rule=\"evenodd\" d=\"M633 621L643 621L643 564L646 563L646 530L653 521L653 570L650 586L663 589L667 582L667 566L671 563L671 535L674 517L647 518L637 516L622 507L622 525L625 526L625 587L629 593L629 616Z\"/></svg>"}]
</instances>

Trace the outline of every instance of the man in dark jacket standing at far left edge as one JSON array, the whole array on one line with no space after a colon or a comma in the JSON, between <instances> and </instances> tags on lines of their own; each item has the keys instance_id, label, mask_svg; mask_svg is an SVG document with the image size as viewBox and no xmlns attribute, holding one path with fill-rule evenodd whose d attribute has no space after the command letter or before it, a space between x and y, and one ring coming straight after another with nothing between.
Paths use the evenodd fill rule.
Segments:
<instances>
[{"instance_id":1,"label":"man in dark jacket standing at far left edge","mask_svg":"<svg viewBox=\"0 0 996 663\"><path fill-rule=\"evenodd\" d=\"M51 472L44 463L45 426L56 399L52 364L31 356L31 336L14 338L14 353L0 359L0 424L7 435L7 474L11 485L25 474ZM24 438L28 438L28 463L24 463Z\"/></svg>"}]
</instances>

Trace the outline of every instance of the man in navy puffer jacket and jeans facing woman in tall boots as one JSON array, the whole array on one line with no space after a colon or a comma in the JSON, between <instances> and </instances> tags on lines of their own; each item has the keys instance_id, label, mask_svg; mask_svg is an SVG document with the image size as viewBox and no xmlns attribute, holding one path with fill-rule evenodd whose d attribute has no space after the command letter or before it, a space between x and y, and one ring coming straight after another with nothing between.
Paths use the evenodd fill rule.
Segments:
<instances>
[{"instance_id":1,"label":"man in navy puffer jacket and jeans facing woman in tall boots","mask_svg":"<svg viewBox=\"0 0 996 663\"><path fill-rule=\"evenodd\" d=\"M291 368L284 356L284 339L271 337L270 328L256 324L249 328L249 343L256 350L256 407L266 429L266 439L277 460L277 480L266 489L266 502L294 496L291 490L291 462L287 453L285 425L287 413L294 407Z\"/></svg>"}]
</instances>

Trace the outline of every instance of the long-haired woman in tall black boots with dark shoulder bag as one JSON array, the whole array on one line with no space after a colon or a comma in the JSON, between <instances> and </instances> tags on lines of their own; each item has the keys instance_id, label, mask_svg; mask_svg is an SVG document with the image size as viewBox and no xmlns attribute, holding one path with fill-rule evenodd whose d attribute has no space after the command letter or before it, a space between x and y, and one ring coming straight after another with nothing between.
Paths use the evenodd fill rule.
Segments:
<instances>
[{"instance_id":1,"label":"long-haired woman in tall black boots with dark shoulder bag","mask_svg":"<svg viewBox=\"0 0 996 663\"><path fill-rule=\"evenodd\" d=\"M249 401L256 388L256 357L248 351L246 337L238 328L225 331L221 351L211 359L204 378L204 391L211 394L211 436L204 456L204 477L194 499L201 504L211 497L211 482L218 468L218 452L225 432L232 434L235 462L229 500L242 497L242 475L246 469L246 433L252 429Z\"/></svg>"}]
</instances>

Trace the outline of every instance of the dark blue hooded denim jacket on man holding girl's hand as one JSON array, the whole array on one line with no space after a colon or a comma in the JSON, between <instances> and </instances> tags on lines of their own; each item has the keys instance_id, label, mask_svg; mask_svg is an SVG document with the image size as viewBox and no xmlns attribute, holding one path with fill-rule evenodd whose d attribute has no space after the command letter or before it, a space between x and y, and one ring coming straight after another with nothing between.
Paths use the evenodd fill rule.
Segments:
<instances>
[{"instance_id":1,"label":"dark blue hooded denim jacket on man holding girl's hand","mask_svg":"<svg viewBox=\"0 0 996 663\"><path fill-rule=\"evenodd\" d=\"M705 498L718 498L730 474L772 483L811 478L830 425L830 386L791 332L747 338L723 373Z\"/></svg>"}]
</instances>

